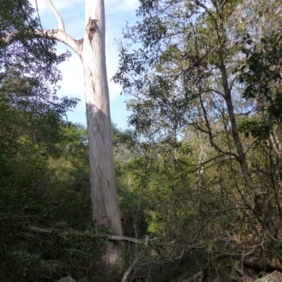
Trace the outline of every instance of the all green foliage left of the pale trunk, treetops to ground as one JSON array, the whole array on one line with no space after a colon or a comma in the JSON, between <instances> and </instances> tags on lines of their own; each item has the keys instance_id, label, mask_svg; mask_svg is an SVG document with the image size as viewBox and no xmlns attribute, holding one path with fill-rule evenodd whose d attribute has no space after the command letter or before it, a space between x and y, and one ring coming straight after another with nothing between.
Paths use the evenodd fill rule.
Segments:
<instances>
[{"instance_id":1,"label":"all green foliage left of the pale trunk, treetops to ground","mask_svg":"<svg viewBox=\"0 0 282 282\"><path fill-rule=\"evenodd\" d=\"M95 279L106 239L89 224L87 131L63 120L78 101L56 94L69 54L34 37L33 12L28 1L1 1L0 280Z\"/></svg>"}]
</instances>

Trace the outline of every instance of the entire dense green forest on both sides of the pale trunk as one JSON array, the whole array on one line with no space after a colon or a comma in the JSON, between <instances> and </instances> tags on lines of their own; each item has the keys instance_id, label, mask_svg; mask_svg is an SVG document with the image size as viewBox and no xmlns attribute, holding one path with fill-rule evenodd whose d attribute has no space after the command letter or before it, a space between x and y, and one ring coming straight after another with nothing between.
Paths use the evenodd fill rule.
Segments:
<instances>
[{"instance_id":1,"label":"entire dense green forest on both sides of the pale trunk","mask_svg":"<svg viewBox=\"0 0 282 282\"><path fill-rule=\"evenodd\" d=\"M93 222L87 128L57 94L70 54L29 1L0 6L0 281L282 281L281 1L140 0L112 77L123 238Z\"/></svg>"}]
</instances>

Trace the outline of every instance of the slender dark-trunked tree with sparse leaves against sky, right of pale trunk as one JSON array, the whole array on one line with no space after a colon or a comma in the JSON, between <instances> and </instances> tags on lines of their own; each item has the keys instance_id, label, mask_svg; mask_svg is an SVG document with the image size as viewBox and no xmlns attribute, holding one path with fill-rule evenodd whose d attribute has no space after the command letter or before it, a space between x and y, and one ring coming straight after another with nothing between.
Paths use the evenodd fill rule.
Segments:
<instances>
[{"instance_id":1,"label":"slender dark-trunked tree with sparse leaves against sky, right of pale trunk","mask_svg":"<svg viewBox=\"0 0 282 282\"><path fill-rule=\"evenodd\" d=\"M141 0L137 15L142 20L125 32L128 41L121 45L114 76L133 97L128 102L133 110L130 122L145 137L163 138L161 134L173 127L176 110L178 134L183 128L200 132L201 139L209 142L207 150L214 150L200 160L199 171L224 161L235 194L229 204L249 210L249 219L255 217L266 228L263 211L271 206L279 214L279 205L269 202L275 193L271 178L262 179L251 161L259 154L254 147L258 140L246 139L243 127L257 115L257 102L242 96L247 84L239 78L246 37L259 42L276 30L281 2ZM140 42L142 47L134 51L133 44Z\"/></svg>"}]
</instances>

